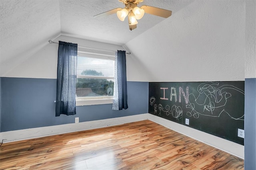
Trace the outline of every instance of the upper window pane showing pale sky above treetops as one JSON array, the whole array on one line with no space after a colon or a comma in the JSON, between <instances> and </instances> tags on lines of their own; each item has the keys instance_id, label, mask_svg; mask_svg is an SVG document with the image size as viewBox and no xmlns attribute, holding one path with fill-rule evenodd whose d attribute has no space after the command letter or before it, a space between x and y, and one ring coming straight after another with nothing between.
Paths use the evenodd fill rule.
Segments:
<instances>
[{"instance_id":1,"label":"upper window pane showing pale sky above treetops","mask_svg":"<svg viewBox=\"0 0 256 170\"><path fill-rule=\"evenodd\" d=\"M113 60L77 57L77 75L114 77Z\"/></svg>"}]
</instances>

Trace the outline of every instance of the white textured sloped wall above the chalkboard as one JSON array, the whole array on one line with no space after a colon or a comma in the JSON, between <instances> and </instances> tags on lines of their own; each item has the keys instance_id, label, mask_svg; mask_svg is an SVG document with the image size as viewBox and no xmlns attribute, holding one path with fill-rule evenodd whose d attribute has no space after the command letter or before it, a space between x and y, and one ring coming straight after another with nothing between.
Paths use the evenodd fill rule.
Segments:
<instances>
[{"instance_id":1,"label":"white textured sloped wall above the chalkboard","mask_svg":"<svg viewBox=\"0 0 256 170\"><path fill-rule=\"evenodd\" d=\"M148 81L244 80L245 1L195 0L126 47Z\"/></svg>"}]
</instances>

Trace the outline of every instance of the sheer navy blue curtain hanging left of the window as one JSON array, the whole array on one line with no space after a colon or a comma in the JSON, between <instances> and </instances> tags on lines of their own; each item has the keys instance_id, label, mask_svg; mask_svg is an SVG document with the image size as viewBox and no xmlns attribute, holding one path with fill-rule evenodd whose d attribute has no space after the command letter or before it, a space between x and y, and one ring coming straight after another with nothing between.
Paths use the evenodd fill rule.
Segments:
<instances>
[{"instance_id":1,"label":"sheer navy blue curtain hanging left of the window","mask_svg":"<svg viewBox=\"0 0 256 170\"><path fill-rule=\"evenodd\" d=\"M76 114L77 44L59 41L55 116Z\"/></svg>"}]
</instances>

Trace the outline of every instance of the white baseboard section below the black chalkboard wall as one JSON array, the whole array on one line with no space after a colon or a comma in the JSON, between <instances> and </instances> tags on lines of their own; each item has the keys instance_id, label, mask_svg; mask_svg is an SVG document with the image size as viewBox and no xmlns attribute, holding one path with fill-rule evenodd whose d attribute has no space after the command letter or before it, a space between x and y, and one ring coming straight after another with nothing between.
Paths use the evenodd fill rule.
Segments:
<instances>
[{"instance_id":1,"label":"white baseboard section below the black chalkboard wall","mask_svg":"<svg viewBox=\"0 0 256 170\"><path fill-rule=\"evenodd\" d=\"M169 129L172 129L178 133L196 139L197 141L200 141L202 143L205 143L217 149L223 150L224 152L228 152L234 156L244 159L243 145L228 141L226 139L222 139L220 137L216 137L214 135L210 135L209 133L193 129L191 127L184 126L173 121L169 121L156 115L149 114L148 119Z\"/></svg>"}]
</instances>

